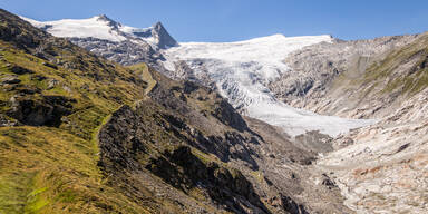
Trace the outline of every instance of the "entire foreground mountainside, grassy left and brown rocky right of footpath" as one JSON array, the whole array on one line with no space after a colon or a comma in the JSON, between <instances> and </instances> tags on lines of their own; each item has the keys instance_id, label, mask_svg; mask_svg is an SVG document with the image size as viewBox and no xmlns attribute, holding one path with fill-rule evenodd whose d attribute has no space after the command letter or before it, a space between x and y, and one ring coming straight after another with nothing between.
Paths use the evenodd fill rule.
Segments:
<instances>
[{"instance_id":1,"label":"entire foreground mountainside, grassy left and brown rocky right of footpath","mask_svg":"<svg viewBox=\"0 0 428 214\"><path fill-rule=\"evenodd\" d=\"M0 20L1 213L351 212L314 153L216 91Z\"/></svg>"}]
</instances>

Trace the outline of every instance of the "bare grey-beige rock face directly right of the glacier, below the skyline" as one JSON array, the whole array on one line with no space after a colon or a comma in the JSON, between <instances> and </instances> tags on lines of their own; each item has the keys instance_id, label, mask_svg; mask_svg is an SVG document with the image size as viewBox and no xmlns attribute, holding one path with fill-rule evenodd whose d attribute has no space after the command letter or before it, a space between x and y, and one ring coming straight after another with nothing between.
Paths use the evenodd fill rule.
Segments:
<instances>
[{"instance_id":1,"label":"bare grey-beige rock face directly right of the glacier, below the skyline","mask_svg":"<svg viewBox=\"0 0 428 214\"><path fill-rule=\"evenodd\" d=\"M272 81L269 87L275 97L294 107L327 115L373 117L372 110L387 107L395 98L383 96L374 103L373 95L361 100L361 94L369 93L362 91L363 89L377 87L374 81L363 79L369 75L367 70L383 60L392 50L411 43L418 37L334 40L332 43L303 48L284 59L291 70ZM369 109L370 106L377 107Z\"/></svg>"}]
</instances>

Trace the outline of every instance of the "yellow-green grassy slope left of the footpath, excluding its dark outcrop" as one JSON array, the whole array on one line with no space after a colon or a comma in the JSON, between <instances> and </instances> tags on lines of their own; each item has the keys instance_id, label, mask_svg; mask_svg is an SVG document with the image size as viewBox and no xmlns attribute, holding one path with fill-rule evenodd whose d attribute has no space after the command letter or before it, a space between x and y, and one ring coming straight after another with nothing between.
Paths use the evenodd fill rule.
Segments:
<instances>
[{"instance_id":1,"label":"yellow-green grassy slope left of the footpath, excluding its dark outcrop","mask_svg":"<svg viewBox=\"0 0 428 214\"><path fill-rule=\"evenodd\" d=\"M21 88L40 90L26 95L29 99L59 95L77 100L72 114L58 128L0 127L0 213L144 213L145 210L135 202L104 185L97 167L98 146L94 140L98 127L110 113L143 98L142 86L145 82L139 86L124 80L130 77L137 79L140 75L115 65L117 74L113 79L95 81L84 75L87 70L43 66L42 62L48 61L3 41L0 41L0 77L12 75L12 66L32 71L19 75L21 82L17 87L2 88L2 113L10 109L10 98ZM76 52L78 55L87 54ZM86 58L87 67L95 59ZM138 72L147 71L145 65L142 69ZM45 78L38 80L37 76ZM51 79L59 80L59 84L48 89Z\"/></svg>"}]
</instances>

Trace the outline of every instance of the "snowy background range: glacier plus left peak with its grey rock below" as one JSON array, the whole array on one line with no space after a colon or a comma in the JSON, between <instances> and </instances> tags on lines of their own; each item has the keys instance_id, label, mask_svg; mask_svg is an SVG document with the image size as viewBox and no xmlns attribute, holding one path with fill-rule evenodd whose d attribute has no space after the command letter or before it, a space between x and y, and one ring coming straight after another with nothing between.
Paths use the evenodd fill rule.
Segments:
<instances>
[{"instance_id":1,"label":"snowy background range: glacier plus left peak with its grey rock below","mask_svg":"<svg viewBox=\"0 0 428 214\"><path fill-rule=\"evenodd\" d=\"M152 42L139 35L138 39L143 41L137 42L135 33L129 35L130 30L127 30L134 29L133 32L136 32L148 31L147 29L125 27L105 17L49 22L29 21L55 36L71 38L76 45L110 60L124 65L148 62L172 78L191 79L211 86L242 114L280 126L291 136L307 132L337 136L349 129L374 123L374 120L321 116L295 109L278 100L271 93L269 84L290 70L288 64L283 62L290 52L314 43L332 42L330 36L288 38L274 35L227 43L172 42L172 48L165 48L159 42ZM97 28L88 29L88 26ZM71 32L76 30L80 32ZM163 28L159 32L152 30L152 35L171 38ZM139 47L140 42L146 46ZM129 57L123 57L124 55Z\"/></svg>"}]
</instances>

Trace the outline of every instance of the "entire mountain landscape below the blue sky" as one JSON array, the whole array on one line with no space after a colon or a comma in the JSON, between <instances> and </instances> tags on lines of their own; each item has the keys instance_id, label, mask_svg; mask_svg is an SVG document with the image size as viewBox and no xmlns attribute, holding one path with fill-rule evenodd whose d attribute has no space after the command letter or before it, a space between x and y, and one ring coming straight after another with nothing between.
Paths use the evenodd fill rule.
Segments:
<instances>
[{"instance_id":1,"label":"entire mountain landscape below the blue sky","mask_svg":"<svg viewBox=\"0 0 428 214\"><path fill-rule=\"evenodd\" d=\"M121 67L3 13L1 149L13 153L0 153L11 154L0 163L30 173L1 174L0 196L8 200L0 210L428 210L427 33L177 43L159 25L135 29L105 16L29 20L97 56L135 65ZM71 175L45 169L52 163ZM81 174L84 181L68 185ZM66 200L62 184L72 189ZM82 200L88 195L99 196Z\"/></svg>"}]
</instances>

